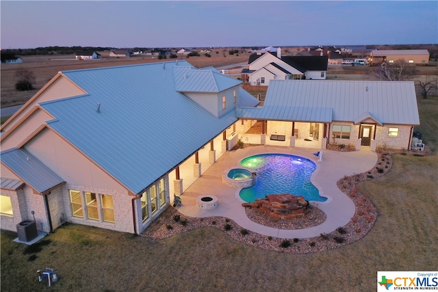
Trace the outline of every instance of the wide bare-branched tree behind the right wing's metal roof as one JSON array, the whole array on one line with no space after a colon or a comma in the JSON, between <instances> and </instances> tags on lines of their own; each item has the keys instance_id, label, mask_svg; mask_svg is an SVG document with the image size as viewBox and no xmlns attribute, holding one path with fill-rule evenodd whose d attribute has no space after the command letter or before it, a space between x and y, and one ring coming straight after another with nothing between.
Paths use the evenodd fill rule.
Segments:
<instances>
[{"instance_id":1,"label":"wide bare-branched tree behind the right wing's metal roof","mask_svg":"<svg viewBox=\"0 0 438 292\"><path fill-rule=\"evenodd\" d=\"M417 68L409 65L403 59L398 59L392 64L383 62L381 66L369 70L368 74L378 80L405 81L413 79L417 71Z\"/></svg>"}]
</instances>

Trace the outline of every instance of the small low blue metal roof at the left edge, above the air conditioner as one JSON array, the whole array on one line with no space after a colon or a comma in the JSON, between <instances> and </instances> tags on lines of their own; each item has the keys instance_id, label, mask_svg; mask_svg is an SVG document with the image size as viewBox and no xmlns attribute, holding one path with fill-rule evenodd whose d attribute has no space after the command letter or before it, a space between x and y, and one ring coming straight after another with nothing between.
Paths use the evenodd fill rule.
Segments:
<instances>
[{"instance_id":1,"label":"small low blue metal roof at the left edge, above the air conditioner","mask_svg":"<svg viewBox=\"0 0 438 292\"><path fill-rule=\"evenodd\" d=\"M11 148L0 155L2 163L40 194L64 183L60 176L23 148Z\"/></svg>"}]
</instances>

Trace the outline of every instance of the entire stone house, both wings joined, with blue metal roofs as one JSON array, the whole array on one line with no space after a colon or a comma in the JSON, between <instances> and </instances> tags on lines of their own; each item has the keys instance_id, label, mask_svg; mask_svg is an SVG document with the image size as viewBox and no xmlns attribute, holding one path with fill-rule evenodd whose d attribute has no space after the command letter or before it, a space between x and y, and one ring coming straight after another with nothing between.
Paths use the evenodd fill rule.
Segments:
<instances>
[{"instance_id":1,"label":"entire stone house, both wings joined, with blue metal roofs","mask_svg":"<svg viewBox=\"0 0 438 292\"><path fill-rule=\"evenodd\" d=\"M140 234L243 135L409 148L420 123L412 82L272 80L263 107L241 83L184 60L58 72L1 127L1 228Z\"/></svg>"}]
</instances>

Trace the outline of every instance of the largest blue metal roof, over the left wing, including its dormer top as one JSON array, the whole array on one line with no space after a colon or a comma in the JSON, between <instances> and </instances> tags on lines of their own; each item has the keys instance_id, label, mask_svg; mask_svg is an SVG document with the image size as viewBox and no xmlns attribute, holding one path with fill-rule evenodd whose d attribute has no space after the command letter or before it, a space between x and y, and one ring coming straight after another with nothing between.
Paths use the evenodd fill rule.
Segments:
<instances>
[{"instance_id":1,"label":"largest blue metal roof, over the left wing, including its dormer top","mask_svg":"<svg viewBox=\"0 0 438 292\"><path fill-rule=\"evenodd\" d=\"M207 84L180 83L184 72ZM236 84L185 61L62 74L88 94L41 103L55 117L47 124L134 194L237 120L234 111L217 118L175 90L211 92Z\"/></svg>"}]
</instances>

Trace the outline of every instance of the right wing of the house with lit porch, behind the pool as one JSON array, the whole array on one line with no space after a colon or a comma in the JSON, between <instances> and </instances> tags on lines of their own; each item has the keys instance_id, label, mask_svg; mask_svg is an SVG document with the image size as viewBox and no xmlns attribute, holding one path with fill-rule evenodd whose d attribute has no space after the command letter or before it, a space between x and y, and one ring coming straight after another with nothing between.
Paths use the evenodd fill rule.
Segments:
<instances>
[{"instance_id":1,"label":"right wing of the house with lit porch, behind the pool","mask_svg":"<svg viewBox=\"0 0 438 292\"><path fill-rule=\"evenodd\" d=\"M410 149L420 124L411 81L272 80L263 107L237 108L238 118L266 120L266 136L327 144Z\"/></svg>"}]
</instances>

